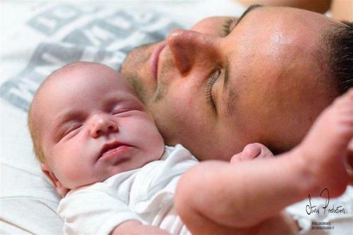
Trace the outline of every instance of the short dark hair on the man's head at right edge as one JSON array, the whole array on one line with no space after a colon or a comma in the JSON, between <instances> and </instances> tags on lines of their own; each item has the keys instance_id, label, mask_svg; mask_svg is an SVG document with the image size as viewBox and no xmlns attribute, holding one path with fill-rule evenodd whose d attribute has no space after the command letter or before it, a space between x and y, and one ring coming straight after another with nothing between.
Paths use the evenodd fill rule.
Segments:
<instances>
[{"instance_id":1,"label":"short dark hair on the man's head at right edge","mask_svg":"<svg viewBox=\"0 0 353 235\"><path fill-rule=\"evenodd\" d=\"M322 39L328 72L337 91L343 94L353 87L353 22L335 23Z\"/></svg>"}]
</instances>

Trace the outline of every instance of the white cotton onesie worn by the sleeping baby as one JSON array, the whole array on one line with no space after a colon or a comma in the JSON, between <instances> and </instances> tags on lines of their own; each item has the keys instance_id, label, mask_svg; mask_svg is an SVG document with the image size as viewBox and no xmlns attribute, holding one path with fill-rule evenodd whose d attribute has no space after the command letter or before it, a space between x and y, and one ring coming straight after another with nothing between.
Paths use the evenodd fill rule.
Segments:
<instances>
[{"instance_id":1,"label":"white cotton onesie worn by the sleeping baby","mask_svg":"<svg viewBox=\"0 0 353 235\"><path fill-rule=\"evenodd\" d=\"M71 190L58 207L64 234L109 234L130 219L171 234L189 234L174 210L173 197L181 174L197 163L183 146L165 146L160 160Z\"/></svg>"}]
</instances>

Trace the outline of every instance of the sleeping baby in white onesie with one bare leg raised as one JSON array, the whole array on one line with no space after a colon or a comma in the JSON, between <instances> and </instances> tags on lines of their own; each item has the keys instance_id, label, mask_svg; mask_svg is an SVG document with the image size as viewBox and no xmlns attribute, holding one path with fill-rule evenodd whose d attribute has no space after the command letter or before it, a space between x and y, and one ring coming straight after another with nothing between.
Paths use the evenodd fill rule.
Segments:
<instances>
[{"instance_id":1,"label":"sleeping baby in white onesie with one bare leg raised","mask_svg":"<svg viewBox=\"0 0 353 235\"><path fill-rule=\"evenodd\" d=\"M65 234L247 234L274 229L268 225L274 218L288 233L296 228L281 209L321 187L338 196L347 185L337 156L353 136L353 92L327 109L290 153L272 158L252 144L233 156L236 164L198 163L182 146L164 146L130 84L93 62L53 72L35 94L28 126L43 172L66 195L58 208ZM308 146L318 140L317 154ZM259 159L243 161L253 158ZM328 170L332 164L337 168ZM323 182L324 174L332 180Z\"/></svg>"}]
</instances>

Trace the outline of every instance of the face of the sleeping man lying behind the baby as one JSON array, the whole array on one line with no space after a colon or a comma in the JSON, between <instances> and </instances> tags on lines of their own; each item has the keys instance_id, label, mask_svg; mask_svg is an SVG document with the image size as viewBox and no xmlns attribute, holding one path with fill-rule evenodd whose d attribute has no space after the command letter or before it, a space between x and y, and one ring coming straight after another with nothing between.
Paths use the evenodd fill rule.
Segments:
<instances>
[{"instance_id":1,"label":"face of the sleeping man lying behind the baby","mask_svg":"<svg viewBox=\"0 0 353 235\"><path fill-rule=\"evenodd\" d=\"M229 160L252 142L286 151L337 95L318 60L320 35L332 23L310 11L267 7L240 21L206 18L136 48L121 72L164 141L201 160Z\"/></svg>"}]
</instances>

